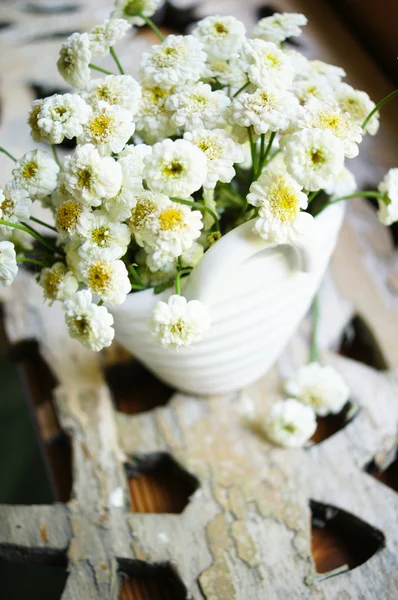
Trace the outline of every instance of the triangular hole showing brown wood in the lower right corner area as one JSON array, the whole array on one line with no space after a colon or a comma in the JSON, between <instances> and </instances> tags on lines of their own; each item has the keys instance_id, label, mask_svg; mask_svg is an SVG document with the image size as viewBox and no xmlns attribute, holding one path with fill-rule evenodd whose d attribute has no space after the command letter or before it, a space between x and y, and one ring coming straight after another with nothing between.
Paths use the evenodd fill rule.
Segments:
<instances>
[{"instance_id":1,"label":"triangular hole showing brown wood in the lower right corner area","mask_svg":"<svg viewBox=\"0 0 398 600\"><path fill-rule=\"evenodd\" d=\"M315 500L310 508L312 556L318 573L343 565L354 569L384 547L384 534L355 515Z\"/></svg>"}]
</instances>

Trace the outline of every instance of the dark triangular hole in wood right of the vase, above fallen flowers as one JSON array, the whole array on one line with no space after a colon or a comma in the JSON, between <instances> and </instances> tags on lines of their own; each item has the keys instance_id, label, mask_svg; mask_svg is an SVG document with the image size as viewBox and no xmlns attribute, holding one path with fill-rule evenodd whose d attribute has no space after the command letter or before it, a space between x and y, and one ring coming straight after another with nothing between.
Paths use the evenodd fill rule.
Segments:
<instances>
[{"instance_id":1,"label":"dark triangular hole in wood right of the vase, above fallen flowers","mask_svg":"<svg viewBox=\"0 0 398 600\"><path fill-rule=\"evenodd\" d=\"M359 315L356 315L345 328L339 354L379 371L387 369L387 363L376 338Z\"/></svg>"}]
</instances>

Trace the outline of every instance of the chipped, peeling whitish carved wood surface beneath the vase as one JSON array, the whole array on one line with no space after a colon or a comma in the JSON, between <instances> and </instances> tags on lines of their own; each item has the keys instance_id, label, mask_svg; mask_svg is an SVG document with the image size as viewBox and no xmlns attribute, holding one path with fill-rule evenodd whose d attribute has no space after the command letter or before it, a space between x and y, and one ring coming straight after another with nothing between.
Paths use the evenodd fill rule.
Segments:
<instances>
[{"instance_id":1,"label":"chipped, peeling whitish carved wood surface beneath the vase","mask_svg":"<svg viewBox=\"0 0 398 600\"><path fill-rule=\"evenodd\" d=\"M22 2L4 3L2 18L18 20L20 26L0 34L5 73L0 138L16 154L30 147L23 127L31 99L27 82L59 84L53 61L60 40L47 39L43 46L27 44L28 39L43 30L87 28L105 16L103 7L109 3L97 2L93 12L86 2L84 10L57 17L33 17L24 14L22 6ZM252 6L245 5L245 11ZM218 7L242 16L241 2L217 2ZM308 35L300 41L309 55L341 64L353 74L350 81L376 99L390 91L376 66L323 2L275 1L273 7L307 14ZM203 14L214 10L214 3L203 3L201 8ZM243 13L248 24L253 16ZM134 43L141 52L148 39L142 36ZM10 46L13 69L4 64L4 49L9 51ZM26 66L33 52L37 59L28 76ZM130 47L121 56L128 65ZM18 136L12 129L16 125ZM356 161L363 185L377 183L393 166L397 141L398 124L394 111L387 108L382 135L366 140L365 151ZM2 172L2 177L6 175ZM245 397L252 399L259 418L281 397L281 378L306 359L308 323L278 367L242 393L208 399L174 394L164 406L126 414L129 400L124 401L124 413L115 410L103 374L104 362L117 362L117 352L94 355L70 340L59 307L44 307L32 278L21 275L3 293L6 334L14 348L23 340L37 340L57 380L59 425L70 435L73 448L73 492L68 503L52 507L0 507L0 553L20 560L67 558L64 600L116 599L119 571L139 575L150 565L169 565L169 573L185 586L186 593L178 585L170 588L176 590L169 591L173 598L398 597L398 496L364 472L374 459L381 469L388 466L397 446L396 257L389 233L377 223L373 209L361 201L353 203L323 288L321 334L324 360L335 364L346 378L359 411L335 435L308 450L275 448L242 418ZM354 315L370 327L386 372L336 354ZM134 393L132 389L132 398ZM151 404L156 404L153 398L148 399ZM197 478L198 489L180 514L149 514L164 504L145 497L153 488L151 492L150 487L141 487L141 505L133 501L131 512L125 466L132 463L140 470L141 464L156 463L165 454ZM333 578L319 577L316 553L311 551L310 500L340 510L346 541L358 540L364 550L350 566L363 564ZM149 598L166 597L138 588L123 593L124 598L143 598L144 593Z\"/></svg>"}]
</instances>

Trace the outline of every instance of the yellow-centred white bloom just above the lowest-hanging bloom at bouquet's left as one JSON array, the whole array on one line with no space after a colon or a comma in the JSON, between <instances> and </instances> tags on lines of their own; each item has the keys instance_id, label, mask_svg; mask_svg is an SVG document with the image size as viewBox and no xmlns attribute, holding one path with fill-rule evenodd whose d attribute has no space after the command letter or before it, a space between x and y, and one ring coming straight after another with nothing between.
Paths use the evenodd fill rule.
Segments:
<instances>
[{"instance_id":1,"label":"yellow-centred white bloom just above the lowest-hanging bloom at bouquet's left","mask_svg":"<svg viewBox=\"0 0 398 600\"><path fill-rule=\"evenodd\" d=\"M93 294L111 306L123 304L131 291L126 265L121 260L85 259L78 270L81 278Z\"/></svg>"}]
</instances>

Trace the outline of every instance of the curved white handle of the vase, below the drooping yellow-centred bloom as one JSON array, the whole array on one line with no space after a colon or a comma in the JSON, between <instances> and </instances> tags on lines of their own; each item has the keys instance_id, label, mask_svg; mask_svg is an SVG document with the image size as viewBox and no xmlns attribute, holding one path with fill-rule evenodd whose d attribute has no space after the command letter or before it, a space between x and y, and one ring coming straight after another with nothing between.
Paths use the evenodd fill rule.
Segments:
<instances>
[{"instance_id":1,"label":"curved white handle of the vase, below the drooping yellow-centred bloom","mask_svg":"<svg viewBox=\"0 0 398 600\"><path fill-rule=\"evenodd\" d=\"M243 223L222 237L203 256L187 278L183 294L188 300L210 304L214 290L222 279L236 267L266 249L284 247L292 271L304 273L316 269L314 264L314 239L310 235L299 244L275 244L263 240L253 232L254 220Z\"/></svg>"}]
</instances>

